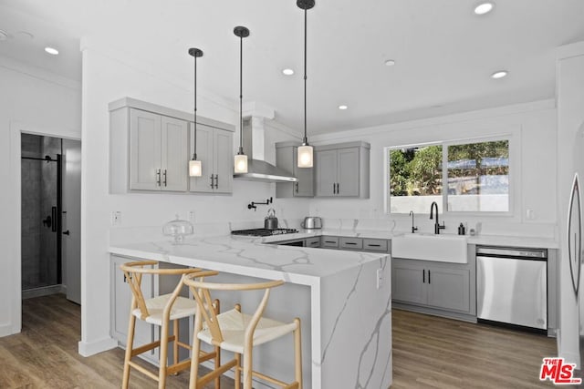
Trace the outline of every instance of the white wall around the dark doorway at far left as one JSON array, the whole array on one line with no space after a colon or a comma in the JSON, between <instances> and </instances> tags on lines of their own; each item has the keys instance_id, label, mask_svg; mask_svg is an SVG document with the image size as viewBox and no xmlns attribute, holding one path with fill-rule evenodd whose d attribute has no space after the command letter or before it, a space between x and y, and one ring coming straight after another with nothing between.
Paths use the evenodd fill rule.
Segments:
<instances>
[{"instance_id":1,"label":"white wall around the dark doorway at far left","mask_svg":"<svg viewBox=\"0 0 584 389\"><path fill-rule=\"evenodd\" d=\"M20 331L20 132L81 137L78 82L0 56L0 336Z\"/></svg>"}]
</instances>

